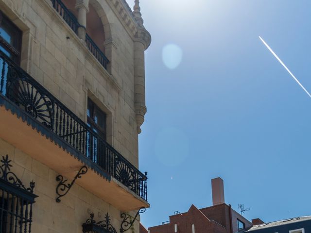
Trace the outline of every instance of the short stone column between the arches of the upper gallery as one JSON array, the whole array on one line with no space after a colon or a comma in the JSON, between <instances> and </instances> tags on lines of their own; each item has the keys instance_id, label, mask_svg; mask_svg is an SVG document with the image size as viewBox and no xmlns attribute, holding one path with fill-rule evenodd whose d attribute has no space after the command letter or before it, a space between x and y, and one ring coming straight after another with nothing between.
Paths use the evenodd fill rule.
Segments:
<instances>
[{"instance_id":1,"label":"short stone column between the arches of the upper gallery","mask_svg":"<svg viewBox=\"0 0 311 233\"><path fill-rule=\"evenodd\" d=\"M77 0L75 5L78 11L78 22L80 27L78 28L78 36L82 41L86 40L86 14L89 12L88 0Z\"/></svg>"}]
</instances>

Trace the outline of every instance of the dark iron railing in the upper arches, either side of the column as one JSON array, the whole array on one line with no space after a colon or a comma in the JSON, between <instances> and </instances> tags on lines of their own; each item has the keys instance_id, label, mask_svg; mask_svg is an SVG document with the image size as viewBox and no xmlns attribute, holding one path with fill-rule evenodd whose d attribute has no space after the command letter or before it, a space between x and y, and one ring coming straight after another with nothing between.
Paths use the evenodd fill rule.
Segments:
<instances>
[{"instance_id":1,"label":"dark iron railing in the upper arches, either side of the column","mask_svg":"<svg viewBox=\"0 0 311 233\"><path fill-rule=\"evenodd\" d=\"M58 14L63 17L65 22L73 30L74 33L78 34L78 28L82 27L77 18L69 11L65 4L61 0L51 0L53 8L58 12ZM102 50L98 48L92 38L86 33L86 46L88 50L95 56L99 63L107 69L109 63L108 58L104 55Z\"/></svg>"}]
</instances>

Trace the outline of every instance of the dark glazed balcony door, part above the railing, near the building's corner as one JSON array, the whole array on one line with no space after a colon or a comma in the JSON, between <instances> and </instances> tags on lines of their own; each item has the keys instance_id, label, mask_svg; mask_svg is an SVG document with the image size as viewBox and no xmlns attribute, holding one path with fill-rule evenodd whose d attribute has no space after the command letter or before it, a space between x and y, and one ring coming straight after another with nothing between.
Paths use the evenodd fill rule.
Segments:
<instances>
[{"instance_id":1,"label":"dark glazed balcony door, part above the railing, near the building's corner","mask_svg":"<svg viewBox=\"0 0 311 233\"><path fill-rule=\"evenodd\" d=\"M89 98L87 99L87 124L106 140L106 114Z\"/></svg>"}]
</instances>

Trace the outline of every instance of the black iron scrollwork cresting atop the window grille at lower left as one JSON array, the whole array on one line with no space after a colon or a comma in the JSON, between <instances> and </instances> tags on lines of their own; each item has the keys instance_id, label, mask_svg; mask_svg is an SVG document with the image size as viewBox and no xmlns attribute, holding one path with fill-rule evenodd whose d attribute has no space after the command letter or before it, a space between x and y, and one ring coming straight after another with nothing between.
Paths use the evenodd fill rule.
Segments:
<instances>
[{"instance_id":1,"label":"black iron scrollwork cresting atop the window grille at lower left","mask_svg":"<svg viewBox=\"0 0 311 233\"><path fill-rule=\"evenodd\" d=\"M2 156L2 159L0 160L2 165L0 166L0 179L7 181L9 183L12 183L13 185L22 188L28 192L34 193L35 188L35 182L30 182L30 187L26 188L24 184L18 179L17 175L15 175L11 168L11 160L9 160L9 156L6 155L5 157Z\"/></svg>"}]
</instances>

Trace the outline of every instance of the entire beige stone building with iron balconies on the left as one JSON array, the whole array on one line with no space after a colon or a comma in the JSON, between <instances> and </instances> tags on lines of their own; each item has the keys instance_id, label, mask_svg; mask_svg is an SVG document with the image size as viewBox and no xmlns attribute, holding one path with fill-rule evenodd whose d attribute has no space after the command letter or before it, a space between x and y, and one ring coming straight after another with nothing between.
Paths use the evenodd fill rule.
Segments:
<instances>
[{"instance_id":1,"label":"entire beige stone building with iron balconies on the left","mask_svg":"<svg viewBox=\"0 0 311 233\"><path fill-rule=\"evenodd\" d=\"M1 233L139 232L151 36L133 4L0 0Z\"/></svg>"}]
</instances>

